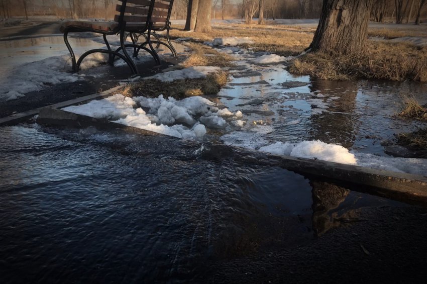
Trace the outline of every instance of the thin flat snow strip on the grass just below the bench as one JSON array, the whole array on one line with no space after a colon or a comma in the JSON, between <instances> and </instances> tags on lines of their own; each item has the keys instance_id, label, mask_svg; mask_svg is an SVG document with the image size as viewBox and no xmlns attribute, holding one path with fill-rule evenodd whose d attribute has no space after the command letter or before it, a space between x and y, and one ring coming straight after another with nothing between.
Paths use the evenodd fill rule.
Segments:
<instances>
[{"instance_id":1,"label":"thin flat snow strip on the grass just below the bench","mask_svg":"<svg viewBox=\"0 0 427 284\"><path fill-rule=\"evenodd\" d=\"M157 79L163 82L172 82L181 79L198 79L205 78L206 75L220 71L220 67L214 66L194 66L181 70L173 70L165 73L159 73L144 79Z\"/></svg>"}]
</instances>

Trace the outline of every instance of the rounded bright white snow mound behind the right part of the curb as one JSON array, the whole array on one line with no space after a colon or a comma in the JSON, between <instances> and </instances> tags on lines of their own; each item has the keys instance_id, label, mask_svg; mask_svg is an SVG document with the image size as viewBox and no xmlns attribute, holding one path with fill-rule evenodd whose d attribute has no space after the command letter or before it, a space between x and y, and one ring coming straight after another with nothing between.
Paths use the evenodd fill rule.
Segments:
<instances>
[{"instance_id":1,"label":"rounded bright white snow mound behind the right part of the curb","mask_svg":"<svg viewBox=\"0 0 427 284\"><path fill-rule=\"evenodd\" d=\"M322 141L303 141L297 144L277 142L261 147L260 151L273 154L293 156L307 159L319 159L329 162L356 165L355 155L340 145L327 144Z\"/></svg>"}]
</instances>

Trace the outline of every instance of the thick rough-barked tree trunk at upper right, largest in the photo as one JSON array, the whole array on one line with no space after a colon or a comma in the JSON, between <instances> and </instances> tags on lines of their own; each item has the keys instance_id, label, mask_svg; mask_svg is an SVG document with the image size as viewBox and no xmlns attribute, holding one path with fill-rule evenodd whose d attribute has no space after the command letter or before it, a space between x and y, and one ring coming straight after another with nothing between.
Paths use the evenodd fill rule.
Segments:
<instances>
[{"instance_id":1,"label":"thick rough-barked tree trunk at upper right, largest in the photo","mask_svg":"<svg viewBox=\"0 0 427 284\"><path fill-rule=\"evenodd\" d=\"M365 48L373 0L324 0L309 48L349 54Z\"/></svg>"}]
</instances>

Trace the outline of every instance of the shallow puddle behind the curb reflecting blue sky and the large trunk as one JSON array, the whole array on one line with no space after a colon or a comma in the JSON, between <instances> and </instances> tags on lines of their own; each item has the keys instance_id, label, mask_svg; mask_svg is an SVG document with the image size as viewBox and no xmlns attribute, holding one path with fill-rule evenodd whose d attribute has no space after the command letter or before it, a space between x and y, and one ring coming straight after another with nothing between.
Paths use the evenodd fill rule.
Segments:
<instances>
[{"instance_id":1,"label":"shallow puddle behind the curb reflecting blue sky and the large trunk","mask_svg":"<svg viewBox=\"0 0 427 284\"><path fill-rule=\"evenodd\" d=\"M386 155L381 140L422 126L395 115L402 95L427 103L426 83L314 80L291 75L280 64L251 64L251 58L241 55L229 86L219 93L220 102L242 111L247 121L242 129L229 129L223 137L228 144L257 149L277 141L318 139ZM301 83L288 85L295 81Z\"/></svg>"}]
</instances>

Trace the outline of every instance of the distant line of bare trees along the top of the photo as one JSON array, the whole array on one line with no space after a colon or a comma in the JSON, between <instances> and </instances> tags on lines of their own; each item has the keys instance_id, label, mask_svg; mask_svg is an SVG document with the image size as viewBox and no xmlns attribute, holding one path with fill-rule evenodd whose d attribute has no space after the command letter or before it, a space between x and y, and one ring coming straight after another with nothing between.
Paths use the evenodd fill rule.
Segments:
<instances>
[{"instance_id":1,"label":"distant line of bare trees along the top of the photo","mask_svg":"<svg viewBox=\"0 0 427 284\"><path fill-rule=\"evenodd\" d=\"M265 19L318 19L323 0L175 0L172 19L187 19L189 7L210 3L210 18L252 23ZM427 0L376 0L371 21L419 24L427 17ZM112 19L115 0L0 0L0 18L54 16L64 19ZM194 10L193 13L197 11ZM193 17L195 19L196 17ZM194 27L194 25L193 25Z\"/></svg>"}]
</instances>

